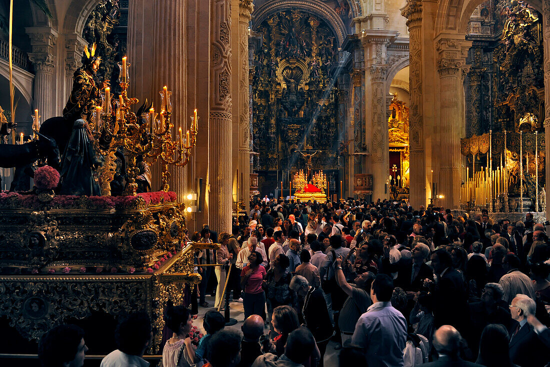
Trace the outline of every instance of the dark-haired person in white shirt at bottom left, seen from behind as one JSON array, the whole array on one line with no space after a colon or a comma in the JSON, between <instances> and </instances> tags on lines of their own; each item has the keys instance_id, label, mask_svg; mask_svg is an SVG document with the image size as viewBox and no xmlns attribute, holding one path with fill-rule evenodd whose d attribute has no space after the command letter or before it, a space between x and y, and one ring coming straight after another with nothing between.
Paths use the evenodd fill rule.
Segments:
<instances>
[{"instance_id":1,"label":"dark-haired person in white shirt at bottom left, seen from behind","mask_svg":"<svg viewBox=\"0 0 550 367\"><path fill-rule=\"evenodd\" d=\"M117 350L106 355L100 367L149 367L143 354L153 341L151 319L145 312L131 314L122 320L114 333Z\"/></svg>"}]
</instances>

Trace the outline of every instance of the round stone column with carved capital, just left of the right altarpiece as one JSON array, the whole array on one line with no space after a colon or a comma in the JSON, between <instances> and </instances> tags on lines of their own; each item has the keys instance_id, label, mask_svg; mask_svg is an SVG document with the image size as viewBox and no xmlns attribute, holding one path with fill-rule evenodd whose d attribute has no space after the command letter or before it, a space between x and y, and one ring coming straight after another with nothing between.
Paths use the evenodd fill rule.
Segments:
<instances>
[{"instance_id":1,"label":"round stone column with carved capital, just left of the right altarpiece","mask_svg":"<svg viewBox=\"0 0 550 367\"><path fill-rule=\"evenodd\" d=\"M436 43L441 106L438 140L442 154L434 154L433 158L439 161L440 167L437 194L443 195L437 205L448 209L460 207L460 127L466 123L462 108L462 69L469 48L466 43L458 39L439 39Z\"/></svg>"}]
</instances>

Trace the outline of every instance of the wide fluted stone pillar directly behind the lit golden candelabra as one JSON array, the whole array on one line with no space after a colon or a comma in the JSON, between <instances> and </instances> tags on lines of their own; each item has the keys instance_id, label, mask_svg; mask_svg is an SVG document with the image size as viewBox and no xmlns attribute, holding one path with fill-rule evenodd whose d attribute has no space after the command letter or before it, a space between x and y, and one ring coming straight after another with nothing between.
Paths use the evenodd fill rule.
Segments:
<instances>
[{"instance_id":1,"label":"wide fluted stone pillar directly behind the lit golden candelabra","mask_svg":"<svg viewBox=\"0 0 550 367\"><path fill-rule=\"evenodd\" d=\"M186 0L157 0L153 7L151 2L136 0L131 3L128 15L129 95L139 98L139 105L147 98L159 111L159 91L166 85L172 91L174 140L179 128L184 133L189 130L190 116L193 114L187 104L187 3ZM150 31L145 32L144 29ZM170 190L175 191L182 201L187 194L186 167L168 167ZM151 174L153 190L161 189L160 164L152 165Z\"/></svg>"}]
</instances>

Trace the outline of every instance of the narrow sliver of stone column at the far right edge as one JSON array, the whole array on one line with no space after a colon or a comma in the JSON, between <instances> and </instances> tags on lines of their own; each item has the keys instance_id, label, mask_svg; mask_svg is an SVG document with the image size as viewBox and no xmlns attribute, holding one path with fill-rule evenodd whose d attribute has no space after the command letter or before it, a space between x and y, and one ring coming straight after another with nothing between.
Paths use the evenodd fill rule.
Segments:
<instances>
[{"instance_id":1,"label":"narrow sliver of stone column at the far right edge","mask_svg":"<svg viewBox=\"0 0 550 367\"><path fill-rule=\"evenodd\" d=\"M543 1L542 40L544 45L544 139L550 141L550 2ZM546 220L550 220L550 144L544 148L546 163Z\"/></svg>"}]
</instances>

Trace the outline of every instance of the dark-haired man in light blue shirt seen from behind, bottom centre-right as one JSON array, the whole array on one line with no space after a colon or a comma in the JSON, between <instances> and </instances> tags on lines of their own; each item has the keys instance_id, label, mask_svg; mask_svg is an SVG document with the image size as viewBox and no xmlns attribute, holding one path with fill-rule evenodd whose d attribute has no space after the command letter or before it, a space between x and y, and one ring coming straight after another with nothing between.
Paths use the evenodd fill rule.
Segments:
<instances>
[{"instance_id":1,"label":"dark-haired man in light blue shirt seen from behind, bottom centre-right","mask_svg":"<svg viewBox=\"0 0 550 367\"><path fill-rule=\"evenodd\" d=\"M364 348L369 367L402 367L407 338L405 317L392 307L393 280L378 274L371 286L373 304L355 325L351 343Z\"/></svg>"}]
</instances>

